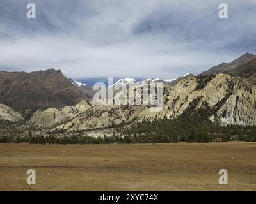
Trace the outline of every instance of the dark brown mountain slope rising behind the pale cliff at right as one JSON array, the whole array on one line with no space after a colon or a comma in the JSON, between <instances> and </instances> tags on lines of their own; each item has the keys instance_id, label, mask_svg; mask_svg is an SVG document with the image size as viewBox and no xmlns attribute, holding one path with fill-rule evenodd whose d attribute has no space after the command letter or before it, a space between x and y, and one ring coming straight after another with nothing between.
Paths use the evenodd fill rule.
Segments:
<instances>
[{"instance_id":1,"label":"dark brown mountain slope rising behind the pale cliff at right","mask_svg":"<svg viewBox=\"0 0 256 204\"><path fill-rule=\"evenodd\" d=\"M208 71L200 73L200 75L219 73L244 77L248 82L256 84L256 55L247 52L230 63L219 64Z\"/></svg>"}]
</instances>

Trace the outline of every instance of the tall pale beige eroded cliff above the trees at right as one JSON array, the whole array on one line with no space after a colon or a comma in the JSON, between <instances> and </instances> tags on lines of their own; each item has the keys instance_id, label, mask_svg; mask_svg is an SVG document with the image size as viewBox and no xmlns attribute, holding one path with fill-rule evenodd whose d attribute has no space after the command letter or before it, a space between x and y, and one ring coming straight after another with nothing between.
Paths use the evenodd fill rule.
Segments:
<instances>
[{"instance_id":1,"label":"tall pale beige eroded cliff above the trees at right","mask_svg":"<svg viewBox=\"0 0 256 204\"><path fill-rule=\"evenodd\" d=\"M164 96L165 103L161 112L144 110L140 120L164 117L175 119L196 100L195 111L201 108L205 110L205 114L214 113L209 119L221 125L256 124L255 85L248 83L244 78L223 74L206 80L209 80L207 84L195 77L180 81Z\"/></svg>"}]
</instances>

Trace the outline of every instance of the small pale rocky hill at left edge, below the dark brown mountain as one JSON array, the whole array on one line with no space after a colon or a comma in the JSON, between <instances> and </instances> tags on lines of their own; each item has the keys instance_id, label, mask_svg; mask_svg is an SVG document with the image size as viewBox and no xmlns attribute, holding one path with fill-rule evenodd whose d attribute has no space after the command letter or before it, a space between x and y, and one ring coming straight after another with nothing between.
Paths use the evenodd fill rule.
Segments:
<instances>
[{"instance_id":1,"label":"small pale rocky hill at left edge, below the dark brown mountain","mask_svg":"<svg viewBox=\"0 0 256 204\"><path fill-rule=\"evenodd\" d=\"M19 122L20 120L24 120L24 118L19 112L6 105L0 104L0 121L2 120Z\"/></svg>"}]
</instances>

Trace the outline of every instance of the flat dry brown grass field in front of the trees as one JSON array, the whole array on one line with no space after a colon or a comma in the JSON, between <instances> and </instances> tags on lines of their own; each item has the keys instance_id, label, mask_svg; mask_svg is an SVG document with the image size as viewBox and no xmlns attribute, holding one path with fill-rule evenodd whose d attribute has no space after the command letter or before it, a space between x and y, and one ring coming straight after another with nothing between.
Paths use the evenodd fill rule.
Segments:
<instances>
[{"instance_id":1,"label":"flat dry brown grass field in front of the trees","mask_svg":"<svg viewBox=\"0 0 256 204\"><path fill-rule=\"evenodd\" d=\"M36 185L26 171L36 171ZM228 170L228 185L218 171ZM0 143L1 191L256 191L256 143Z\"/></svg>"}]
</instances>

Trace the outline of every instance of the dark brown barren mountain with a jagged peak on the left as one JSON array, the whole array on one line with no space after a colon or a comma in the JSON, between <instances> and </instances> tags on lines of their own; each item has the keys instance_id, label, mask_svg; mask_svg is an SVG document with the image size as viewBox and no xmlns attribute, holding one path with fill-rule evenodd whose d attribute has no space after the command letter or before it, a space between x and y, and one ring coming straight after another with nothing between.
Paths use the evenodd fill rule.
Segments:
<instances>
[{"instance_id":1,"label":"dark brown barren mountain with a jagged peak on the left","mask_svg":"<svg viewBox=\"0 0 256 204\"><path fill-rule=\"evenodd\" d=\"M38 108L61 108L84 99L60 70L7 72L0 71L0 103L21 112Z\"/></svg>"}]
</instances>

